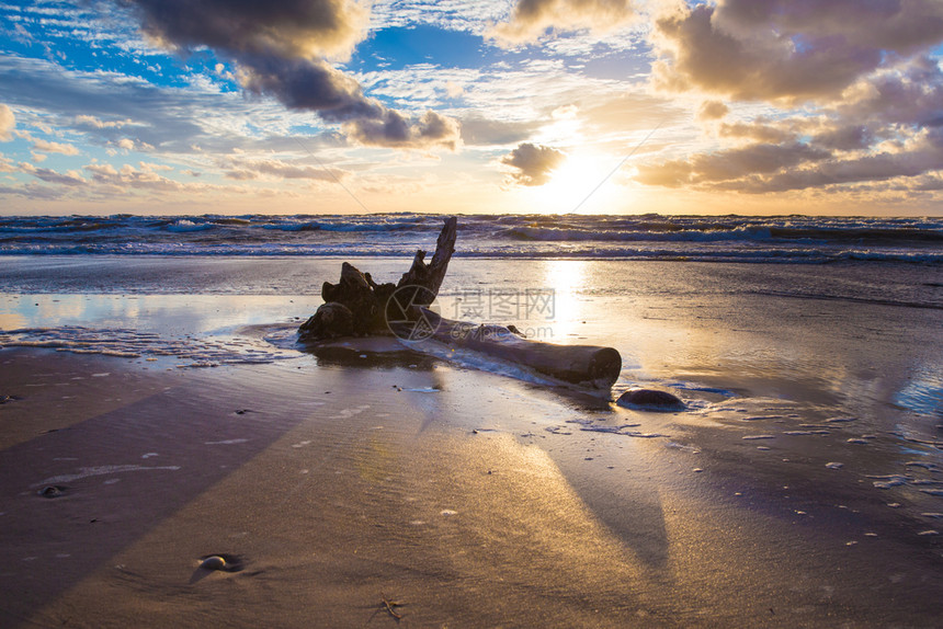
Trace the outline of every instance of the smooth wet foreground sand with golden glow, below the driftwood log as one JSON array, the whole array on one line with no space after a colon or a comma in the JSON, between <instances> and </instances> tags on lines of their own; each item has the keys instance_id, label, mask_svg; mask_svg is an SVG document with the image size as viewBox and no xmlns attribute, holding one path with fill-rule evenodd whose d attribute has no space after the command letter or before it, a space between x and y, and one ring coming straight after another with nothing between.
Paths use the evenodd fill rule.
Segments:
<instances>
[{"instance_id":1,"label":"smooth wet foreground sand with golden glow, below the driftwood log","mask_svg":"<svg viewBox=\"0 0 943 629\"><path fill-rule=\"evenodd\" d=\"M3 626L391 626L384 599L414 627L941 618L936 538L890 535L867 493L579 423L678 415L443 366L0 358L23 392L0 407L21 431L0 458ZM241 570L197 569L220 553Z\"/></svg>"}]
</instances>

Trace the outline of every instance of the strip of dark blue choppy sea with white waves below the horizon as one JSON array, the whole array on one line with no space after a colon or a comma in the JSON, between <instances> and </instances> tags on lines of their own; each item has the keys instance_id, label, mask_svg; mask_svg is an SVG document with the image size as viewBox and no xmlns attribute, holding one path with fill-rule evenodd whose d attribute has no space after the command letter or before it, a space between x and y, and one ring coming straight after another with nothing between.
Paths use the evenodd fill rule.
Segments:
<instances>
[{"instance_id":1,"label":"strip of dark blue choppy sea with white waves below the horizon","mask_svg":"<svg viewBox=\"0 0 943 629\"><path fill-rule=\"evenodd\" d=\"M442 217L0 217L0 255L411 256ZM943 218L459 216L458 258L943 262Z\"/></svg>"}]
</instances>

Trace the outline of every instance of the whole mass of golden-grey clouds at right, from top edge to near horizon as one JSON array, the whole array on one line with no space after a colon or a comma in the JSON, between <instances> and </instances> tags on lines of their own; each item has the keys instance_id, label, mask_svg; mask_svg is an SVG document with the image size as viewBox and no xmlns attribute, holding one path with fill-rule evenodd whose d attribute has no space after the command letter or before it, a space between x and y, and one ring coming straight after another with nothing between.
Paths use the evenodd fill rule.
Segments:
<instances>
[{"instance_id":1,"label":"whole mass of golden-grey clouds at right, from top edge to near horizon","mask_svg":"<svg viewBox=\"0 0 943 629\"><path fill-rule=\"evenodd\" d=\"M769 101L779 115L720 124L755 144L648 163L639 181L747 193L904 190L943 165L939 0L720 0L656 22L656 81ZM736 107L731 106L736 114ZM909 181L909 183L908 183ZM916 187L913 187L916 190Z\"/></svg>"}]
</instances>

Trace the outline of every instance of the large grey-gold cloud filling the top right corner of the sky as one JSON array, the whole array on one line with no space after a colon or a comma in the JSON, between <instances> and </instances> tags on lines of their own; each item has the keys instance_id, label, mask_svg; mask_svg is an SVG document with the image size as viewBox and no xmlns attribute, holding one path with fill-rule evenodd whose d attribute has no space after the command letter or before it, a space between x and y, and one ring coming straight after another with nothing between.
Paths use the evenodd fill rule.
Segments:
<instances>
[{"instance_id":1,"label":"large grey-gold cloud filling the top right corner of the sky","mask_svg":"<svg viewBox=\"0 0 943 629\"><path fill-rule=\"evenodd\" d=\"M722 0L656 20L655 80L740 100L834 99L941 39L939 0Z\"/></svg>"}]
</instances>

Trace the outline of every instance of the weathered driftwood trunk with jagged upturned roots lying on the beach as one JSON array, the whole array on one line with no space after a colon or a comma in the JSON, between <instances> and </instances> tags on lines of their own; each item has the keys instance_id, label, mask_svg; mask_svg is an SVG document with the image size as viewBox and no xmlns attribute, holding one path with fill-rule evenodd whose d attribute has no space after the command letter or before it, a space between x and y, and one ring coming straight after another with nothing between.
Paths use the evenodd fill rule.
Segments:
<instances>
[{"instance_id":1,"label":"weathered driftwood trunk with jagged upturned roots lying on the beach","mask_svg":"<svg viewBox=\"0 0 943 629\"><path fill-rule=\"evenodd\" d=\"M453 321L424 308L433 302L445 278L455 252L456 229L455 217L446 219L432 260L427 264L425 252L417 251L412 266L397 284L376 284L368 273L344 262L340 282L325 282L321 287L325 304L298 329L299 340L317 345L343 336L390 333L410 341L431 338L524 365L558 380L610 389L622 369L622 357L612 347L529 341L513 325Z\"/></svg>"}]
</instances>

